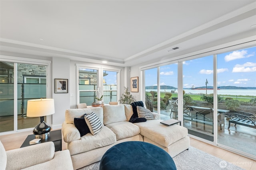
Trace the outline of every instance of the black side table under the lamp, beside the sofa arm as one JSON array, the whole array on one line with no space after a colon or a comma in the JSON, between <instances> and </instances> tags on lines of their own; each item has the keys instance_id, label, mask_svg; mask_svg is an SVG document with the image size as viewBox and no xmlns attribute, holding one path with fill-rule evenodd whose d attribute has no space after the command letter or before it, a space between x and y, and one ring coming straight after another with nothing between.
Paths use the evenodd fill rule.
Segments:
<instances>
[{"instance_id":1,"label":"black side table under the lamp, beside the sofa arm","mask_svg":"<svg viewBox=\"0 0 256 170\"><path fill-rule=\"evenodd\" d=\"M29 145L29 141L32 141L33 139L35 139L34 134L28 135L28 137L22 143L21 148L31 146L31 145ZM46 137L45 139L41 139L39 141L39 143L50 142L50 141L52 141L54 143L55 151L62 150L61 130L50 131L50 136ZM32 144L32 145L37 145L37 144Z\"/></svg>"}]
</instances>

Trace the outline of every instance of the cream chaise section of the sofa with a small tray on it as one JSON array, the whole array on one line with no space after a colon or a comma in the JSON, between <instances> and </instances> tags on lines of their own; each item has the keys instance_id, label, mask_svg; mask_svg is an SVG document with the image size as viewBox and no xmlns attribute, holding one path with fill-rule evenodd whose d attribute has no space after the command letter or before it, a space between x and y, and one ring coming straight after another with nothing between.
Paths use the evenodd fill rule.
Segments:
<instances>
[{"instance_id":1,"label":"cream chaise section of the sofa with a small tray on it","mask_svg":"<svg viewBox=\"0 0 256 170\"><path fill-rule=\"evenodd\" d=\"M148 120L134 124L140 127L141 135L164 147L168 147L188 135L188 129L186 127L180 125L166 126L160 123L161 121Z\"/></svg>"}]
</instances>

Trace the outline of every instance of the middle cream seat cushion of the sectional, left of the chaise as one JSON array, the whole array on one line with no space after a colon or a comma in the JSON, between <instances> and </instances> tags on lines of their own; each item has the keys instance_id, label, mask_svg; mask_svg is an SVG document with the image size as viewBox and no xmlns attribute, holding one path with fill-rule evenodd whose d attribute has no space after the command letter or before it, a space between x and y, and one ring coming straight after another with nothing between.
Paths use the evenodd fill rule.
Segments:
<instances>
[{"instance_id":1,"label":"middle cream seat cushion of the sectional, left of the chaise","mask_svg":"<svg viewBox=\"0 0 256 170\"><path fill-rule=\"evenodd\" d=\"M133 137L140 134L140 127L128 121L120 121L106 125L116 134L116 140Z\"/></svg>"}]
</instances>

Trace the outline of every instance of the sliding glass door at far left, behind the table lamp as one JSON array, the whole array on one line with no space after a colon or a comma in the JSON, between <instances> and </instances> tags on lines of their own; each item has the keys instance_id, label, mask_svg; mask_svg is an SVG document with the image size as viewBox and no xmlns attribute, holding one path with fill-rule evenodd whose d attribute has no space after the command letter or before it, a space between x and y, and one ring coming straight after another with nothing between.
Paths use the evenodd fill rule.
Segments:
<instances>
[{"instance_id":1,"label":"sliding glass door at far left, behind the table lamp","mask_svg":"<svg viewBox=\"0 0 256 170\"><path fill-rule=\"evenodd\" d=\"M0 61L0 132L35 127L38 117L26 117L27 101L46 98L50 91L46 86L50 61L30 64L31 59L14 58Z\"/></svg>"}]
</instances>

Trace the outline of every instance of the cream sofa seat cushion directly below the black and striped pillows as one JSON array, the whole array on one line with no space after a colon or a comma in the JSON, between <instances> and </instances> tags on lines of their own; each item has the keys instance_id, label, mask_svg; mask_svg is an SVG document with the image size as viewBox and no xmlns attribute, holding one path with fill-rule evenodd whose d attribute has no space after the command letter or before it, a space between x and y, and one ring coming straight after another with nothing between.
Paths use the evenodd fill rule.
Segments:
<instances>
[{"instance_id":1,"label":"cream sofa seat cushion directly below the black and striped pillows","mask_svg":"<svg viewBox=\"0 0 256 170\"><path fill-rule=\"evenodd\" d=\"M97 135L87 133L80 140L72 141L68 144L70 154L79 154L89 150L105 147L116 142L116 135L108 127L102 126Z\"/></svg>"}]
</instances>

